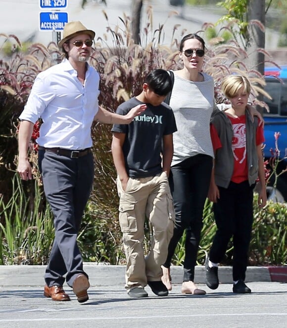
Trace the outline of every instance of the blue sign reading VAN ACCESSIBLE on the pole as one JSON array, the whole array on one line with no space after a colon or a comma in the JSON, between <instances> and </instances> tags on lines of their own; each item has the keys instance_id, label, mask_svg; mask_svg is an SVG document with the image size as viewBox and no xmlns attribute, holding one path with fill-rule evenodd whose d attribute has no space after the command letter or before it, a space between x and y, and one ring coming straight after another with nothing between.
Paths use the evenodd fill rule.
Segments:
<instances>
[{"instance_id":1,"label":"blue sign reading VAN ACCESSIBLE on the pole","mask_svg":"<svg viewBox=\"0 0 287 328\"><path fill-rule=\"evenodd\" d=\"M40 31L62 31L66 23L67 12L40 12Z\"/></svg>"}]
</instances>

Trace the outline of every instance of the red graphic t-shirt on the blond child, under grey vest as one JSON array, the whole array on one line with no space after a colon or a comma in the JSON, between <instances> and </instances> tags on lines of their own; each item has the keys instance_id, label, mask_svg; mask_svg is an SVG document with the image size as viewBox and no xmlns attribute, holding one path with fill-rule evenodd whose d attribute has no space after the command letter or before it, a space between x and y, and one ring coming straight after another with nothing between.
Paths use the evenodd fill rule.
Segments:
<instances>
[{"instance_id":1,"label":"red graphic t-shirt on the blond child, under grey vest","mask_svg":"<svg viewBox=\"0 0 287 328\"><path fill-rule=\"evenodd\" d=\"M239 184L248 180L248 167L246 158L246 128L245 115L237 118L228 116L233 127L232 151L234 155L234 170L231 181ZM211 124L210 135L214 151L220 148L221 142L218 137L216 129ZM264 142L264 133L262 127L258 126L256 129L256 145ZM220 143L219 143L220 142Z\"/></svg>"}]
</instances>

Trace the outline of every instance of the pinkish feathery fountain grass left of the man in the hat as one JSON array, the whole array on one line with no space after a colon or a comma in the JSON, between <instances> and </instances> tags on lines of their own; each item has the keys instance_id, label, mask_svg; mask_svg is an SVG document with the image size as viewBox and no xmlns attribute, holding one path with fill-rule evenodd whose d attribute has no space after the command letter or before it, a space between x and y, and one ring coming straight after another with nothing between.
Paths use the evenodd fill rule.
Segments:
<instances>
[{"instance_id":1,"label":"pinkish feathery fountain grass left of the man in the hat","mask_svg":"<svg viewBox=\"0 0 287 328\"><path fill-rule=\"evenodd\" d=\"M10 39L12 37L22 47L15 36L9 36ZM7 39L0 45L0 49L6 42ZM37 74L51 66L51 54L54 52L59 53L54 44L48 47L33 44L28 53L19 51L9 59L0 60L0 194L4 201L12 196L11 180L18 152L15 138L18 117Z\"/></svg>"}]
</instances>

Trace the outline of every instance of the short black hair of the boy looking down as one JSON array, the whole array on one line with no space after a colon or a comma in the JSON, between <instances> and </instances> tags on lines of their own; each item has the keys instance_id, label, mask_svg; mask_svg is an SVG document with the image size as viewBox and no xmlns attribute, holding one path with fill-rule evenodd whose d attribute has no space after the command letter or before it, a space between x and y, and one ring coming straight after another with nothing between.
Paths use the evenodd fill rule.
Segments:
<instances>
[{"instance_id":1,"label":"short black hair of the boy looking down","mask_svg":"<svg viewBox=\"0 0 287 328\"><path fill-rule=\"evenodd\" d=\"M170 75L164 69L155 69L148 73L144 79L150 90L158 95L167 95L172 89Z\"/></svg>"}]
</instances>

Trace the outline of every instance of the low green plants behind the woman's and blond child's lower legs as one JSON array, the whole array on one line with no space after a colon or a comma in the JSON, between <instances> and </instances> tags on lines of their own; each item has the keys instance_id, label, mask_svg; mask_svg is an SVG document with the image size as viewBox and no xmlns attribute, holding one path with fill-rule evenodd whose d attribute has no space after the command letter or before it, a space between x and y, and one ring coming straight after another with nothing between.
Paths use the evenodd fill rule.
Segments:
<instances>
[{"instance_id":1,"label":"low green plants behind the woman's and blond child's lower legs","mask_svg":"<svg viewBox=\"0 0 287 328\"><path fill-rule=\"evenodd\" d=\"M253 227L249 247L249 265L286 265L287 259L287 204L273 203L259 209L257 204L258 194L254 193L253 202ZM212 203L206 200L203 213L203 228L197 257L197 263L203 265L205 256L209 252L216 232L216 224L212 212ZM184 261L184 234L181 238L175 255L174 265L183 265ZM232 265L233 244L228 245L222 265Z\"/></svg>"}]
</instances>

